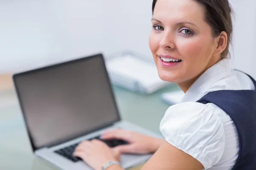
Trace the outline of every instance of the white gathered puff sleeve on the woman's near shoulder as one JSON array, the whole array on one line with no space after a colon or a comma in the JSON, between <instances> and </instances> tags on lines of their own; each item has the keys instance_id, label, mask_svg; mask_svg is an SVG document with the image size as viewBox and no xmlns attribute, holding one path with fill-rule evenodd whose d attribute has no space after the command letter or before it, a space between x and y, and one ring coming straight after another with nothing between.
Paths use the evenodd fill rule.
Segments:
<instances>
[{"instance_id":1,"label":"white gathered puff sleeve on the woman's near shoulder","mask_svg":"<svg viewBox=\"0 0 256 170\"><path fill-rule=\"evenodd\" d=\"M224 125L211 105L183 102L168 108L160 123L166 141L209 169L224 153Z\"/></svg>"}]
</instances>

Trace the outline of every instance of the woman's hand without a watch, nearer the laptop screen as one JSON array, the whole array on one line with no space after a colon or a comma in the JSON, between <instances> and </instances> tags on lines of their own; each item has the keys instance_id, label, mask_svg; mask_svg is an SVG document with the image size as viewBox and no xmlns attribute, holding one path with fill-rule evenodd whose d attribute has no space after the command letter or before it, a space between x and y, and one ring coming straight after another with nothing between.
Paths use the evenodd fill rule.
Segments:
<instances>
[{"instance_id":1,"label":"woman's hand without a watch, nearer the laptop screen","mask_svg":"<svg viewBox=\"0 0 256 170\"><path fill-rule=\"evenodd\" d=\"M163 143L163 139L157 139L151 136L146 136L137 132L128 130L115 129L109 130L102 134L102 139L122 139L129 144L119 145L113 149L121 153L154 153Z\"/></svg>"}]
</instances>

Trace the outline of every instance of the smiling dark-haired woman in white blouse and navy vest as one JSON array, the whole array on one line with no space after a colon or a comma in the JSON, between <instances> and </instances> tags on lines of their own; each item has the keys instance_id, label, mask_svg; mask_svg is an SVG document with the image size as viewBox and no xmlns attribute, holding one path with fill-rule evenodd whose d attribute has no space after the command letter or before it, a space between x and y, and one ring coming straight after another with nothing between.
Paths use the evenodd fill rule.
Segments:
<instances>
[{"instance_id":1,"label":"smiling dark-haired woman in white blouse and navy vest","mask_svg":"<svg viewBox=\"0 0 256 170\"><path fill-rule=\"evenodd\" d=\"M152 10L149 45L159 77L185 92L160 123L165 140L112 130L102 138L130 144L111 149L97 140L85 141L74 156L96 170L104 163L106 170L121 170L116 163L120 153L150 152L154 156L143 170L256 169L251 145L256 140L251 121L256 118L256 82L227 65L232 34L228 0L153 0Z\"/></svg>"}]
</instances>

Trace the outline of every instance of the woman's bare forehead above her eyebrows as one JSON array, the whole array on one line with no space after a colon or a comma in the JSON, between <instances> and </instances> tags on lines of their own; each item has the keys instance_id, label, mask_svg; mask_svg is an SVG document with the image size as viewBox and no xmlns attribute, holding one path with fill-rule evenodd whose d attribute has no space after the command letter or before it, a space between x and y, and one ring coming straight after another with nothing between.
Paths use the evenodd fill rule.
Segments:
<instances>
[{"instance_id":1,"label":"woman's bare forehead above her eyebrows","mask_svg":"<svg viewBox=\"0 0 256 170\"><path fill-rule=\"evenodd\" d=\"M161 22L204 21L203 8L194 0L157 0L153 17Z\"/></svg>"}]
</instances>

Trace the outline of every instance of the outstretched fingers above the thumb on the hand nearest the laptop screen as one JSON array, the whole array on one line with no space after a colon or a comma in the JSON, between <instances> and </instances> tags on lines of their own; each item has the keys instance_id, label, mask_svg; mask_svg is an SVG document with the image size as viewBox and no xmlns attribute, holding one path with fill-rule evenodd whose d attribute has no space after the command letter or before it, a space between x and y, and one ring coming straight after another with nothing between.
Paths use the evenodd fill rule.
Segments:
<instances>
[{"instance_id":1,"label":"outstretched fingers above the thumb on the hand nearest the laptop screen","mask_svg":"<svg viewBox=\"0 0 256 170\"><path fill-rule=\"evenodd\" d=\"M131 132L122 129L115 129L103 133L101 137L102 139L122 139L130 142Z\"/></svg>"}]
</instances>

